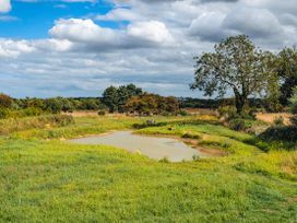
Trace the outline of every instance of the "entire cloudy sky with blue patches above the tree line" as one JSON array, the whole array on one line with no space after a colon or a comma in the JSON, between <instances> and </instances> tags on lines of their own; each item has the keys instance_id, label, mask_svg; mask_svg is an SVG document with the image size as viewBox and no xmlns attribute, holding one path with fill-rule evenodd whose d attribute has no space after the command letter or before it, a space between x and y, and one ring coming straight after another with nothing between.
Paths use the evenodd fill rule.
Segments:
<instances>
[{"instance_id":1,"label":"entire cloudy sky with blue patches above the tree line","mask_svg":"<svg viewBox=\"0 0 297 223\"><path fill-rule=\"evenodd\" d=\"M0 92L98 96L134 83L192 92L193 57L247 34L263 49L297 44L296 0L0 0Z\"/></svg>"}]
</instances>

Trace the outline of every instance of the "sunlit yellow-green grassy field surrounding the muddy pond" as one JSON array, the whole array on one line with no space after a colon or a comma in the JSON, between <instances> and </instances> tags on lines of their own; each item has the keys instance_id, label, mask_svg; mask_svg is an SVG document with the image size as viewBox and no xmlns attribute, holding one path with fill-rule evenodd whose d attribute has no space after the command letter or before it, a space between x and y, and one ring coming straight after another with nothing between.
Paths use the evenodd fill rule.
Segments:
<instances>
[{"instance_id":1,"label":"sunlit yellow-green grassy field surrounding the muddy pond","mask_svg":"<svg viewBox=\"0 0 297 223\"><path fill-rule=\"evenodd\" d=\"M0 222L297 222L296 151L263 152L253 136L206 115L154 119L3 121L11 128L0 138ZM167 163L64 141L133 128L228 155Z\"/></svg>"}]
</instances>

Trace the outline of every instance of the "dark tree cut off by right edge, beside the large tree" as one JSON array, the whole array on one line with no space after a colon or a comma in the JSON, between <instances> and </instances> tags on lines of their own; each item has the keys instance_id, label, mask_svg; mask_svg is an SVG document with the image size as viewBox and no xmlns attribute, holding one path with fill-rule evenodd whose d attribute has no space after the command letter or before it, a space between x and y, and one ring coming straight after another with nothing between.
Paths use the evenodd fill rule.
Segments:
<instances>
[{"instance_id":1,"label":"dark tree cut off by right edge, beside the large tree","mask_svg":"<svg viewBox=\"0 0 297 223\"><path fill-rule=\"evenodd\" d=\"M289 104L293 96L293 90L297 86L297 49L284 48L277 56L277 73L281 78L281 103Z\"/></svg>"}]
</instances>

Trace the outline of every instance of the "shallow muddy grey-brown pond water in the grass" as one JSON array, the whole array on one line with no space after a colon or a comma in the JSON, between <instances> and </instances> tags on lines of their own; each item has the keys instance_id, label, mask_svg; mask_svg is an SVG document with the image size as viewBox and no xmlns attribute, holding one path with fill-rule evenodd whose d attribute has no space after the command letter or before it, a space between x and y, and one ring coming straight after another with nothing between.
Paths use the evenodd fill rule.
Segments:
<instances>
[{"instance_id":1,"label":"shallow muddy grey-brown pond water in the grass","mask_svg":"<svg viewBox=\"0 0 297 223\"><path fill-rule=\"evenodd\" d=\"M209 156L177 139L139 136L133 134L131 131L117 131L96 137L80 138L70 140L70 142L112 145L155 160L166 157L170 162L192 161L194 155L199 157Z\"/></svg>"}]
</instances>

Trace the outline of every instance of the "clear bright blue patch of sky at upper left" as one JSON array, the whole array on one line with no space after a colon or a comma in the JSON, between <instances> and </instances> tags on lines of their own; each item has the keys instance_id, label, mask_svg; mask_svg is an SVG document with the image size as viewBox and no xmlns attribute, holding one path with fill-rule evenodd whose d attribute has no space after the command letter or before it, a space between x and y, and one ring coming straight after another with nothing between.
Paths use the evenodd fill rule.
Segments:
<instances>
[{"instance_id":1,"label":"clear bright blue patch of sky at upper left","mask_svg":"<svg viewBox=\"0 0 297 223\"><path fill-rule=\"evenodd\" d=\"M13 19L0 23L0 36L10 38L47 38L48 30L61 17L87 17L92 13L105 14L112 9L109 2L12 1L12 10L5 14ZM14 20L15 19L15 20ZM116 26L116 23L99 23Z\"/></svg>"}]
</instances>

